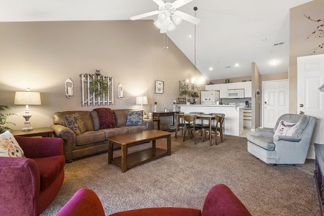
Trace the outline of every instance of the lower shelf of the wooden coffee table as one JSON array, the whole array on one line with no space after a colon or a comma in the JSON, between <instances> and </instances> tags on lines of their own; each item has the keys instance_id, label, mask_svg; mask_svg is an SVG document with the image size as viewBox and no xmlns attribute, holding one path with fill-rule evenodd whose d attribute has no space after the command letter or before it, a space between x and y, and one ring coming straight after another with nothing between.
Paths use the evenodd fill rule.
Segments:
<instances>
[{"instance_id":1,"label":"lower shelf of the wooden coffee table","mask_svg":"<svg viewBox=\"0 0 324 216\"><path fill-rule=\"evenodd\" d=\"M168 151L159 148L149 148L144 149L138 152L134 152L127 155L127 165L126 168L129 169L133 166L137 166L142 163L146 163L148 161L154 160L159 157L163 157L168 155ZM111 159L111 163L115 164L116 166L123 168L121 166L121 156L115 157Z\"/></svg>"}]
</instances>

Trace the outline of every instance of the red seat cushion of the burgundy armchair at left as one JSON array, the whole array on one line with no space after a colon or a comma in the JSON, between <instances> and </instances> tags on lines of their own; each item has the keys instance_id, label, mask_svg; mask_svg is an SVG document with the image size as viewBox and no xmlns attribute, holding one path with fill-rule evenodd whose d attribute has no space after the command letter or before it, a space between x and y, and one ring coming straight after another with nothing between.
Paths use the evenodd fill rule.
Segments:
<instances>
[{"instance_id":1,"label":"red seat cushion of the burgundy armchair at left","mask_svg":"<svg viewBox=\"0 0 324 216\"><path fill-rule=\"evenodd\" d=\"M57 155L52 157L34 158L33 159L39 170L39 177L41 179L41 191L47 189L59 176L64 169L65 157L64 155Z\"/></svg>"}]
</instances>

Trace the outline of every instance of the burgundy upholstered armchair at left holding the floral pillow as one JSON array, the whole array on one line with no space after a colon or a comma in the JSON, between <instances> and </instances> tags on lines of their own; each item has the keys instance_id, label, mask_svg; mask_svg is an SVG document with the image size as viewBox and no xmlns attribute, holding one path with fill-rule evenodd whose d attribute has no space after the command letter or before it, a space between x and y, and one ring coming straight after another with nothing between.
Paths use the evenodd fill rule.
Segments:
<instances>
[{"instance_id":1,"label":"burgundy upholstered armchair at left holding the floral pillow","mask_svg":"<svg viewBox=\"0 0 324 216\"><path fill-rule=\"evenodd\" d=\"M15 139L26 158L0 157L0 215L39 215L63 184L63 140Z\"/></svg>"}]
</instances>

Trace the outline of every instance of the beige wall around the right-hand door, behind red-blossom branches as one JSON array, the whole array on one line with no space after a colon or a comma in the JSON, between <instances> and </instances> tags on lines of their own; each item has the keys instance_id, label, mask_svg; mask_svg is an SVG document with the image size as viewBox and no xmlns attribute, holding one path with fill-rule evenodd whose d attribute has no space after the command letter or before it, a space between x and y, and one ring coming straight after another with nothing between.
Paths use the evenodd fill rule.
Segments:
<instances>
[{"instance_id":1,"label":"beige wall around the right-hand door, behind red-blossom branches","mask_svg":"<svg viewBox=\"0 0 324 216\"><path fill-rule=\"evenodd\" d=\"M300 5L290 10L290 44L289 44L289 111L297 113L297 57L309 56L310 50L323 42L323 37L314 37L310 35L319 23L312 22L304 17L310 16L318 20L324 18L324 1L314 0L312 2ZM323 24L323 22L320 22ZM324 49L319 49L313 55L323 54Z\"/></svg>"}]
</instances>

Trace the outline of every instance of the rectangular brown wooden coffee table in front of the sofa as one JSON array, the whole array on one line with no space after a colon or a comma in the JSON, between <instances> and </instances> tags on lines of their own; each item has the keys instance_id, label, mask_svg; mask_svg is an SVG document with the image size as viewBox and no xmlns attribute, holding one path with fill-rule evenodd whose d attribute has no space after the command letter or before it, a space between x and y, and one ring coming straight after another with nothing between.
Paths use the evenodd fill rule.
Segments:
<instances>
[{"instance_id":1,"label":"rectangular brown wooden coffee table in front of the sofa","mask_svg":"<svg viewBox=\"0 0 324 216\"><path fill-rule=\"evenodd\" d=\"M128 168L154 160L159 157L171 155L171 134L170 132L150 130L138 134L126 134L108 137L109 153L108 163L115 164L121 168L121 172L126 172ZM157 139L167 139L167 150L156 148ZM127 154L128 147L152 141L152 148ZM113 158L113 144L121 147L121 156Z\"/></svg>"}]
</instances>

